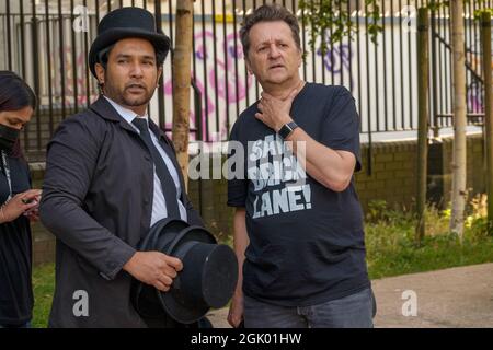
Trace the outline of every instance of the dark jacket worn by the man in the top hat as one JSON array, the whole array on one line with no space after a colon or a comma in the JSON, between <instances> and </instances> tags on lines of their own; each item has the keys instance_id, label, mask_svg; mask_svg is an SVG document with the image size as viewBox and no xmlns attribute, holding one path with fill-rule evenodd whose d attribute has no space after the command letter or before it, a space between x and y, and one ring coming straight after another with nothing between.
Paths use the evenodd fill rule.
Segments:
<instances>
[{"instance_id":1,"label":"dark jacket worn by the man in the top hat","mask_svg":"<svg viewBox=\"0 0 493 350\"><path fill-rule=\"evenodd\" d=\"M188 223L202 225L172 142L156 124L150 128L179 170ZM146 327L122 267L149 230L152 194L149 151L103 96L60 124L48 144L41 202L41 220L57 237L51 327Z\"/></svg>"}]
</instances>

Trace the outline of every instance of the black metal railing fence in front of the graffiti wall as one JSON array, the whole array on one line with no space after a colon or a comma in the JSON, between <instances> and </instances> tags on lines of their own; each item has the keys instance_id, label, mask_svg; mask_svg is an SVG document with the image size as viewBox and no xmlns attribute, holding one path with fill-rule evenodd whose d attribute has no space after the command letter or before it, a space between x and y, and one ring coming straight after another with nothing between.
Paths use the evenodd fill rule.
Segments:
<instances>
[{"instance_id":1,"label":"black metal railing fence in front of the graffiti wall","mask_svg":"<svg viewBox=\"0 0 493 350\"><path fill-rule=\"evenodd\" d=\"M65 117L82 110L98 97L87 56L100 19L108 11L136 5L157 16L158 25L175 36L175 1L2 0L0 4L0 69L19 72L35 90L39 108L26 127L24 149L31 160L43 160L46 142ZM316 1L316 0L312 0ZM238 115L255 100L261 86L249 75L239 40L240 24L252 9L276 1L196 0L193 31L193 106L191 139L226 140ZM415 19L428 1L381 1L383 31L375 45L367 35L371 19L364 0L347 1L354 39L347 37L320 49L329 30L310 45L310 24L298 1L277 1L297 14L306 51L301 77L307 81L342 84L353 93L360 115L360 131L371 136L417 127ZM467 102L470 122L484 113L481 77L480 23L474 11L493 1L470 1L465 8ZM452 122L450 14L448 8L431 13L429 126ZM171 54L172 57L172 54ZM164 84L154 95L150 115L171 130L172 67L164 63Z\"/></svg>"}]
</instances>

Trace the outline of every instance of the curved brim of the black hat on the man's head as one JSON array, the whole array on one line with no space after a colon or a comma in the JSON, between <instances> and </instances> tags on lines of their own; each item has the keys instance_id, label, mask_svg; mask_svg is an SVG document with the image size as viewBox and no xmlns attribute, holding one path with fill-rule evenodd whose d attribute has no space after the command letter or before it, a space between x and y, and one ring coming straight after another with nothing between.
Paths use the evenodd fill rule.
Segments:
<instances>
[{"instance_id":1,"label":"curved brim of the black hat on the man's head","mask_svg":"<svg viewBox=\"0 0 493 350\"><path fill-rule=\"evenodd\" d=\"M167 57L170 51L171 40L165 34L161 33L149 33L148 31L139 30L139 28L113 28L107 30L104 33L96 36L94 42L91 45L91 49L89 50L89 68L91 69L91 73L96 77L94 66L98 63L98 54L103 49L118 40L137 37L148 39L156 51L162 52L163 58Z\"/></svg>"}]
</instances>

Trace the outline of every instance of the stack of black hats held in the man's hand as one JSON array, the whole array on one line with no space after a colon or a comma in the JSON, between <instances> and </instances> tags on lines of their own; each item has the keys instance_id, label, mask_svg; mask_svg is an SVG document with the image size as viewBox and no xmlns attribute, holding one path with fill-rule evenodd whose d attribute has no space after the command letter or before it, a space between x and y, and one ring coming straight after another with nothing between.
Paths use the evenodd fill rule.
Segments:
<instances>
[{"instance_id":1,"label":"stack of black hats held in the man's hand","mask_svg":"<svg viewBox=\"0 0 493 350\"><path fill-rule=\"evenodd\" d=\"M142 318L171 316L192 324L210 307L222 307L231 299L238 281L237 257L229 246L217 244L207 230L163 219L150 229L139 248L161 252L183 262L168 292L134 281L131 301Z\"/></svg>"}]
</instances>

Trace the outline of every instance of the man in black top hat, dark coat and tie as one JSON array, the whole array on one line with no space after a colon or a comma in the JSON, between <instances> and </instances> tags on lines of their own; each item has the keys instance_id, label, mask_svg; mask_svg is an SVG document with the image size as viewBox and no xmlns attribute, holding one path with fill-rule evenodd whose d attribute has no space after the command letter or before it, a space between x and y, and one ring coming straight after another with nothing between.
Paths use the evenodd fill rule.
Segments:
<instances>
[{"instance_id":1,"label":"man in black top hat, dark coat and tie","mask_svg":"<svg viewBox=\"0 0 493 350\"><path fill-rule=\"evenodd\" d=\"M48 144L41 219L57 237L50 327L146 327L133 280L169 291L183 268L138 252L161 219L202 225L186 197L173 145L147 115L170 39L152 14L106 14L89 52L101 95L64 120Z\"/></svg>"}]
</instances>

